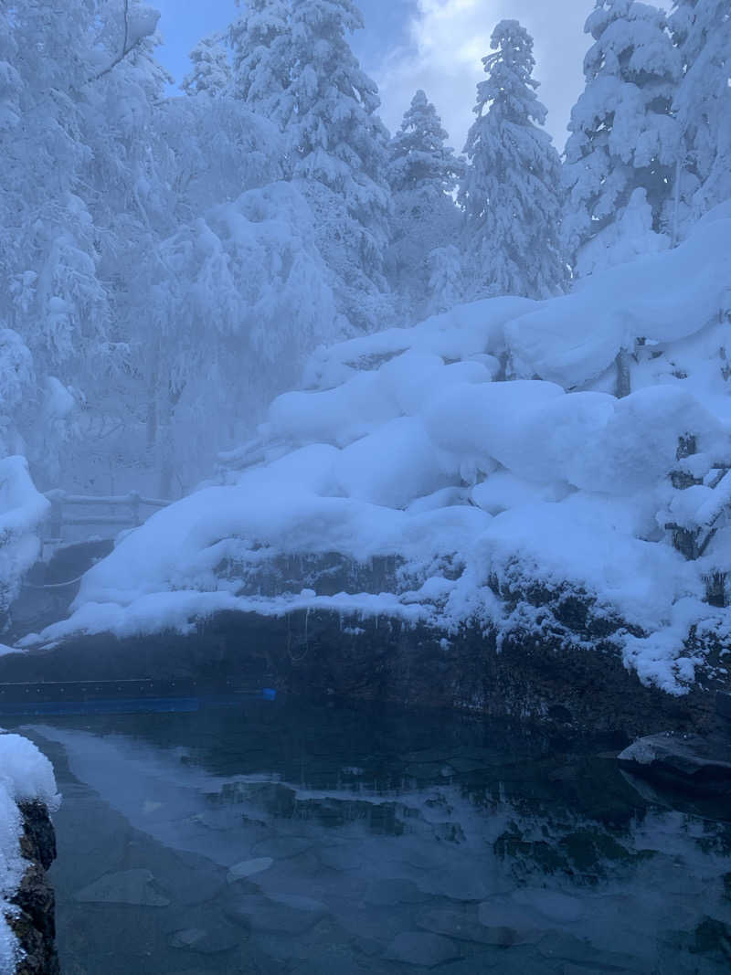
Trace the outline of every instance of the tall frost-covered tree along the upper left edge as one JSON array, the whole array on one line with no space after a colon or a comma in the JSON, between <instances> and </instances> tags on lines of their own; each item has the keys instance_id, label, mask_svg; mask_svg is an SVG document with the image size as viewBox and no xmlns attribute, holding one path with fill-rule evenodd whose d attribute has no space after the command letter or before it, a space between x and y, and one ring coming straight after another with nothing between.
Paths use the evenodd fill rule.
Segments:
<instances>
[{"instance_id":1,"label":"tall frost-covered tree along the upper left edge","mask_svg":"<svg viewBox=\"0 0 731 975\"><path fill-rule=\"evenodd\" d=\"M0 318L32 354L22 433L45 480L59 461L49 430L68 432L78 387L100 389L113 358L100 268L113 235L95 213L110 187L95 168L135 95L145 97L128 85L120 98L120 73L141 56L158 15L135 2L27 0L0 18ZM117 176L124 162L114 155Z\"/></svg>"}]
</instances>

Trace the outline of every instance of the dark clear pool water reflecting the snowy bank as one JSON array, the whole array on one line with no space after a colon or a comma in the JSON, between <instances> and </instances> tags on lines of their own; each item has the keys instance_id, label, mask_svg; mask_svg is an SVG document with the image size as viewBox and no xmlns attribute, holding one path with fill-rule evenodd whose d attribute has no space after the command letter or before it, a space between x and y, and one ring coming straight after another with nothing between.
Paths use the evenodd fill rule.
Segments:
<instances>
[{"instance_id":1,"label":"dark clear pool water reflecting the snowy bank","mask_svg":"<svg viewBox=\"0 0 731 975\"><path fill-rule=\"evenodd\" d=\"M726 972L731 827L602 743L286 702L26 728L66 975Z\"/></svg>"}]
</instances>

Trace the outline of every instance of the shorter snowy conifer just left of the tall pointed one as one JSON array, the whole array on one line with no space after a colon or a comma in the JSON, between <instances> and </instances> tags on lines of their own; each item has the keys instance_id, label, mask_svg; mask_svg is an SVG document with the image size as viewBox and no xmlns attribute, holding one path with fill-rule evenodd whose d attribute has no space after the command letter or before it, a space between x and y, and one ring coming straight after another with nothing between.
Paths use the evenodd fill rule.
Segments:
<instances>
[{"instance_id":1,"label":"shorter snowy conifer just left of the tall pointed one","mask_svg":"<svg viewBox=\"0 0 731 975\"><path fill-rule=\"evenodd\" d=\"M436 108L419 90L389 143L393 211L388 273L392 288L404 299L405 315L416 320L461 298L460 292L450 291L457 283L454 276L447 285L442 272L434 275L435 266L446 272L444 255L430 256L454 246L460 224L452 194L463 166L444 144L446 138Z\"/></svg>"}]
</instances>

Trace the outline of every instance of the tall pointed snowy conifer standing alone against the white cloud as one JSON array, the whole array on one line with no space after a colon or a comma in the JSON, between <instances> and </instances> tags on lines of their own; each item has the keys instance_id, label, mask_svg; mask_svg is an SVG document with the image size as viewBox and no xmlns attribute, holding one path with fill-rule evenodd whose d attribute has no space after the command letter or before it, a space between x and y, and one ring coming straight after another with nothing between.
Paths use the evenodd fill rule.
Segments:
<instances>
[{"instance_id":1,"label":"tall pointed snowy conifer standing alone against the white cloud","mask_svg":"<svg viewBox=\"0 0 731 975\"><path fill-rule=\"evenodd\" d=\"M543 298L565 279L558 243L560 160L539 128L546 109L535 93L532 38L518 20L502 20L490 47L459 190L468 294Z\"/></svg>"}]
</instances>

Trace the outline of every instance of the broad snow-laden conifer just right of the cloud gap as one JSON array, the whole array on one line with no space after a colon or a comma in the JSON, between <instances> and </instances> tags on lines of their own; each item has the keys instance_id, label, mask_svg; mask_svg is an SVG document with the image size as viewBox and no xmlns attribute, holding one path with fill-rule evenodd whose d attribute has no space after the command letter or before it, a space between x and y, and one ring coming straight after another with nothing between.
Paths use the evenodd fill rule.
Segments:
<instances>
[{"instance_id":1,"label":"broad snow-laden conifer just right of the cloud gap","mask_svg":"<svg viewBox=\"0 0 731 975\"><path fill-rule=\"evenodd\" d=\"M650 227L635 248L668 246L680 77L667 17L655 7L596 0L584 29L594 44L584 59L586 88L571 112L563 167L562 233L577 275L618 263L632 250L619 233L631 200L636 218L625 221L628 231L638 222Z\"/></svg>"}]
</instances>

